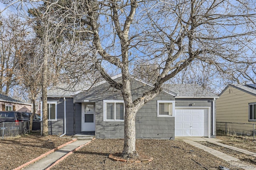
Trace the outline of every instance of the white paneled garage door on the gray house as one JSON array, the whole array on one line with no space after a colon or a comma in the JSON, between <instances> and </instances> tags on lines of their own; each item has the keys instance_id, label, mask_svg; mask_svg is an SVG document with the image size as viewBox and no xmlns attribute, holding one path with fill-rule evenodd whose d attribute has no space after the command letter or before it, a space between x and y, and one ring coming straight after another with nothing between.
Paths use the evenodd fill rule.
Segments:
<instances>
[{"instance_id":1,"label":"white paneled garage door on the gray house","mask_svg":"<svg viewBox=\"0 0 256 170\"><path fill-rule=\"evenodd\" d=\"M175 136L209 136L208 108L176 108Z\"/></svg>"}]
</instances>

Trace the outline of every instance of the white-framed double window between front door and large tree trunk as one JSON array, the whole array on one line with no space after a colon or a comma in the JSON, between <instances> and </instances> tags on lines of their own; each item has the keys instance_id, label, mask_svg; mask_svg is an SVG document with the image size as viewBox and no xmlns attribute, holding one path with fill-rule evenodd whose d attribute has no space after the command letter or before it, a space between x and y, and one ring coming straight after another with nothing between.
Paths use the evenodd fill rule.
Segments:
<instances>
[{"instance_id":1,"label":"white-framed double window between front door and large tree trunk","mask_svg":"<svg viewBox=\"0 0 256 170\"><path fill-rule=\"evenodd\" d=\"M103 121L124 121L124 101L104 100Z\"/></svg>"}]
</instances>

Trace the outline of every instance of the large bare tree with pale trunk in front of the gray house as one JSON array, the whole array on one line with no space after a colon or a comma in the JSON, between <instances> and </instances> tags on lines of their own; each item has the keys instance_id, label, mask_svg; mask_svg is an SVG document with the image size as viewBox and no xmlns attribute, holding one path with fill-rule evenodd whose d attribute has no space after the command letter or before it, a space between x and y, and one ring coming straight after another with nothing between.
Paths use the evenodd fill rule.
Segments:
<instances>
[{"instance_id":1,"label":"large bare tree with pale trunk in front of the gray house","mask_svg":"<svg viewBox=\"0 0 256 170\"><path fill-rule=\"evenodd\" d=\"M214 83L219 77L255 81L250 68L255 66L256 8L250 0L64 0L44 6L42 17L52 16L54 37L61 33L88 49L84 59L93 63L91 71L122 92L124 157L138 156L136 113L167 81L193 70L214 75ZM159 75L154 87L133 100L130 73L137 61L154 63ZM122 73L121 83L111 79L113 72Z\"/></svg>"}]
</instances>

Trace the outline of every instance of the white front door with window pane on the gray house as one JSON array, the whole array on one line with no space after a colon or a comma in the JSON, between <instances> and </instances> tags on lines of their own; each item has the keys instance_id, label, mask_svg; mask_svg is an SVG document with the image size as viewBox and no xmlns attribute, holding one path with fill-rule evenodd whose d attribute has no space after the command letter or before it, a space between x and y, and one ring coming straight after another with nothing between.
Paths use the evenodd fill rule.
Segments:
<instances>
[{"instance_id":1,"label":"white front door with window pane on the gray house","mask_svg":"<svg viewBox=\"0 0 256 170\"><path fill-rule=\"evenodd\" d=\"M95 103L82 104L82 131L95 131Z\"/></svg>"}]
</instances>

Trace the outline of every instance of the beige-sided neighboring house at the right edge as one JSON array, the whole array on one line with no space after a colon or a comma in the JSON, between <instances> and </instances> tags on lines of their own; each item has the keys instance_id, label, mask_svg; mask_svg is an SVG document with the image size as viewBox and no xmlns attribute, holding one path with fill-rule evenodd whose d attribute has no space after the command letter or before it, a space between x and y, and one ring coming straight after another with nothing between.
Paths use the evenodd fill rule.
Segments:
<instances>
[{"instance_id":1,"label":"beige-sided neighboring house at the right edge","mask_svg":"<svg viewBox=\"0 0 256 170\"><path fill-rule=\"evenodd\" d=\"M216 101L216 130L252 135L256 128L256 84L229 84Z\"/></svg>"}]
</instances>

